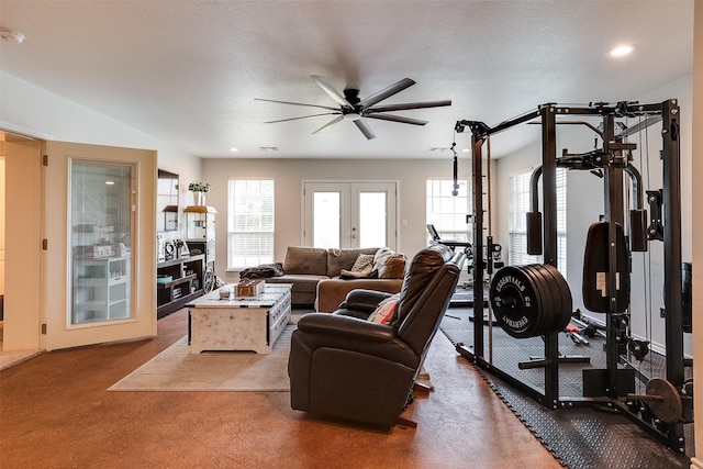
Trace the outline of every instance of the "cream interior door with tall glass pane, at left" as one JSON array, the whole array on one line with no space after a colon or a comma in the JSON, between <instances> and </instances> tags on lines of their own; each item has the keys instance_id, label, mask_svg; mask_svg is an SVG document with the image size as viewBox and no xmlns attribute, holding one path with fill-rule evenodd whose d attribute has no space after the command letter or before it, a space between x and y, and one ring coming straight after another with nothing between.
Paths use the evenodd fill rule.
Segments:
<instances>
[{"instance_id":1,"label":"cream interior door with tall glass pane, at left","mask_svg":"<svg viewBox=\"0 0 703 469\"><path fill-rule=\"evenodd\" d=\"M45 146L45 348L156 335L156 152Z\"/></svg>"}]
</instances>

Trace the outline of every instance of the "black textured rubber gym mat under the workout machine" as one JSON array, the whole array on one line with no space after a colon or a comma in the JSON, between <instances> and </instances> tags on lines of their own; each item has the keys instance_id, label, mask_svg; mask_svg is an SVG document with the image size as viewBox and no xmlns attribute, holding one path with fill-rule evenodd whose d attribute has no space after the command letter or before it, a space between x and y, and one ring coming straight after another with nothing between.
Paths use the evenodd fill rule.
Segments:
<instances>
[{"instance_id":1,"label":"black textured rubber gym mat under the workout machine","mask_svg":"<svg viewBox=\"0 0 703 469\"><path fill-rule=\"evenodd\" d=\"M450 309L442 322L440 330L456 346L473 343L470 309ZM484 340L487 340L484 338ZM515 339L493 328L493 364L500 369L520 377L523 382L544 389L544 370L520 370L517 362L529 356L544 354L539 337ZM488 346L487 346L488 347ZM590 365L561 365L559 367L559 395L582 395L581 370L604 368L605 353L598 337L589 346L577 345L566 334L560 334L559 349L563 355L588 355ZM661 366L660 357L650 354L651 364L641 368L655 371ZM507 382L479 366L479 375L505 402L515 415L533 432L561 465L577 468L688 468L689 458L674 454L645 429L626 416L610 412L598 412L590 407L573 407L550 411L525 395ZM643 370L644 372L644 370ZM692 455L693 425L687 427L687 453ZM689 447L691 450L689 450Z\"/></svg>"}]
</instances>

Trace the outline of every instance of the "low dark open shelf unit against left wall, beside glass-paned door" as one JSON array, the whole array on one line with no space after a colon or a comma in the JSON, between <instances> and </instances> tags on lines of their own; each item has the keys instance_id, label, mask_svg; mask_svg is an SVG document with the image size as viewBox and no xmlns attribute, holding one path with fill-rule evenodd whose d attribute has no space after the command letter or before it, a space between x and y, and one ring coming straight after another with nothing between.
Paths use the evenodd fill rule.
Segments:
<instances>
[{"instance_id":1,"label":"low dark open shelf unit against left wall, beside glass-paned door","mask_svg":"<svg viewBox=\"0 0 703 469\"><path fill-rule=\"evenodd\" d=\"M167 282L156 282L156 316L164 317L203 294L205 256L180 257L156 265L158 276L169 276Z\"/></svg>"}]
</instances>

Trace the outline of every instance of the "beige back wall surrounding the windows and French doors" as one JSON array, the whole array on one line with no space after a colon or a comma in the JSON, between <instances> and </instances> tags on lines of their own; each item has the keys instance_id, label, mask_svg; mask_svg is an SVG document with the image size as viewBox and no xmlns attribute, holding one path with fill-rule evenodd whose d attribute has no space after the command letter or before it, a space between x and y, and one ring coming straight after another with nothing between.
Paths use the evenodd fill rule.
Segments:
<instances>
[{"instance_id":1,"label":"beige back wall surrounding the windows and French doors","mask_svg":"<svg viewBox=\"0 0 703 469\"><path fill-rule=\"evenodd\" d=\"M283 261L286 248L302 244L303 180L393 180L399 181L398 250L411 256L426 246L425 181L428 178L451 178L451 155L438 155L436 160L419 159L205 159L203 180L212 185L208 204L217 210L216 273L226 272L227 180L230 178L272 178L276 183L275 260ZM459 163L459 177L470 179L468 157ZM403 226L402 221L408 221Z\"/></svg>"}]
</instances>

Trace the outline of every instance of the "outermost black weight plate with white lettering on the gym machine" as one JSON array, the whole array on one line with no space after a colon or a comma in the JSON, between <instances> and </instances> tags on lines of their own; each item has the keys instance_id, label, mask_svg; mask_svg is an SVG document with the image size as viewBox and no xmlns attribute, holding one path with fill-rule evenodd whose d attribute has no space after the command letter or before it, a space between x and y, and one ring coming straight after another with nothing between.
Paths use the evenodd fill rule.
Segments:
<instances>
[{"instance_id":1,"label":"outermost black weight plate with white lettering on the gym machine","mask_svg":"<svg viewBox=\"0 0 703 469\"><path fill-rule=\"evenodd\" d=\"M536 295L531 277L515 266L500 269L489 291L495 320L515 338L534 337L539 317L540 298Z\"/></svg>"}]
</instances>

